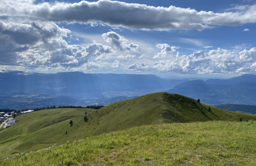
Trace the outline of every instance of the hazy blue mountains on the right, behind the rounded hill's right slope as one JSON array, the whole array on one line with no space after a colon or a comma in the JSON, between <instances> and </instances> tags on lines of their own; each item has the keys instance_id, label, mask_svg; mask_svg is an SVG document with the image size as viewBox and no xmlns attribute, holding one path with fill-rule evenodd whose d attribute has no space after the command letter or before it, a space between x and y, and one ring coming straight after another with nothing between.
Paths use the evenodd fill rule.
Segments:
<instances>
[{"instance_id":1,"label":"hazy blue mountains on the right, behind the rounded hill's right slope","mask_svg":"<svg viewBox=\"0 0 256 166\"><path fill-rule=\"evenodd\" d=\"M256 105L256 75L244 74L227 80L187 81L167 92L199 98L201 102L211 105L226 103Z\"/></svg>"}]
</instances>

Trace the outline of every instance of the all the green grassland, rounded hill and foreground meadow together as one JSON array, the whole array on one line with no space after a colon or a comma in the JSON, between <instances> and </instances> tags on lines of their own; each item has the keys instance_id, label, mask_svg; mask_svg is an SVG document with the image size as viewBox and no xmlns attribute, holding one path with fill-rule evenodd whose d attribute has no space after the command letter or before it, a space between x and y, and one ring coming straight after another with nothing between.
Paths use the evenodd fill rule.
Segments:
<instances>
[{"instance_id":1,"label":"all the green grassland, rounded hill and foreground meadow together","mask_svg":"<svg viewBox=\"0 0 256 166\"><path fill-rule=\"evenodd\" d=\"M0 157L8 157L1 162L14 165L168 165L178 158L176 165L195 164L196 159L207 159L207 163L201 161L199 165L235 165L238 157L230 153L232 149L243 155L254 153L243 151L247 148L240 146L255 143L250 138L255 133L255 119L255 115L222 110L182 95L153 93L99 110L50 109L18 116L14 126L0 130ZM73 124L69 124L70 120ZM237 148L232 148L232 141ZM110 159L108 153L119 162ZM225 158L226 153L229 157ZM230 157L234 160L229 160ZM247 158L248 163L253 160Z\"/></svg>"}]
</instances>

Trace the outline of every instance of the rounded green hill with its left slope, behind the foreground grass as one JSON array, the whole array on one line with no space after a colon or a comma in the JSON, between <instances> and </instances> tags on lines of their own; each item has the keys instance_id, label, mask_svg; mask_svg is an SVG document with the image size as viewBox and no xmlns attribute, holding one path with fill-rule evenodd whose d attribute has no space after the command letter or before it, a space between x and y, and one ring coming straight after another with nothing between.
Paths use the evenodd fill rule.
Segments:
<instances>
[{"instance_id":1,"label":"rounded green hill with its left slope, behind the foreground grass","mask_svg":"<svg viewBox=\"0 0 256 166\"><path fill-rule=\"evenodd\" d=\"M243 121L255 115L221 110L193 103L193 99L165 92L144 95L110 104L99 110L51 109L36 111L16 118L16 124L0 130L0 157L23 151L33 151L51 145L74 141L91 135L123 130L134 126L206 122ZM84 122L85 112L88 118ZM56 124L56 119L58 124ZM69 121L74 122L73 125ZM67 134L66 134L67 131ZM13 138L11 139L11 134Z\"/></svg>"}]
</instances>

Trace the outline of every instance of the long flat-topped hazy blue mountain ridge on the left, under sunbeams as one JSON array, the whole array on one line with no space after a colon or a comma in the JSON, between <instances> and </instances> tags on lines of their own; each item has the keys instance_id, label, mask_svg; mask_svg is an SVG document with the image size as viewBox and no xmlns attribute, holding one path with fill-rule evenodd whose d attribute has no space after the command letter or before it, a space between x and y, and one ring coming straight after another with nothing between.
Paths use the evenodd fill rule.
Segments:
<instances>
[{"instance_id":1,"label":"long flat-topped hazy blue mountain ridge on the left, under sunbeams","mask_svg":"<svg viewBox=\"0 0 256 166\"><path fill-rule=\"evenodd\" d=\"M166 80L152 74L86 74L78 71L31 75L25 75L23 71L0 72L0 80L1 93L36 94L166 89L189 81Z\"/></svg>"}]
</instances>

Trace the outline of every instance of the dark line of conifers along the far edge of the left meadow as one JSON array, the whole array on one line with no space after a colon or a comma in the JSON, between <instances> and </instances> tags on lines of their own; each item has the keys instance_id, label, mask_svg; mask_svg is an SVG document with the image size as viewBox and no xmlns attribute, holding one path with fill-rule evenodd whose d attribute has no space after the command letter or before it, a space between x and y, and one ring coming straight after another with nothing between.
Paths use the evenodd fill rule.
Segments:
<instances>
[{"instance_id":1,"label":"dark line of conifers along the far edge of the left meadow","mask_svg":"<svg viewBox=\"0 0 256 166\"><path fill-rule=\"evenodd\" d=\"M48 110L48 109L56 109L56 108L91 108L91 109L100 109L104 106L86 106L86 107L82 107L82 106L58 106L56 107L55 105L53 106L47 106L47 107L43 107L43 108L32 108L32 109L22 109L22 110L14 110L14 109L0 109L0 112L4 112L4 113L10 113L10 112L15 112L15 113L20 113L23 111L28 111L28 110L34 110L34 111L39 111L39 110Z\"/></svg>"}]
</instances>

